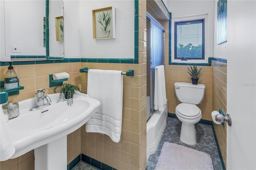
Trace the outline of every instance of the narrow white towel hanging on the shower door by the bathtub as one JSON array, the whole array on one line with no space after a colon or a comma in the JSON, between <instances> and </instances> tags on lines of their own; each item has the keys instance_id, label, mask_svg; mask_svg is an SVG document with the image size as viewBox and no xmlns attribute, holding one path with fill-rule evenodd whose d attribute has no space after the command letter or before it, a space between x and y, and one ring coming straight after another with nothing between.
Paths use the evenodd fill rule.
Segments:
<instances>
[{"instance_id":1,"label":"narrow white towel hanging on the shower door by the bathtub","mask_svg":"<svg viewBox=\"0 0 256 170\"><path fill-rule=\"evenodd\" d=\"M166 104L164 65L155 67L154 109L163 111Z\"/></svg>"}]
</instances>

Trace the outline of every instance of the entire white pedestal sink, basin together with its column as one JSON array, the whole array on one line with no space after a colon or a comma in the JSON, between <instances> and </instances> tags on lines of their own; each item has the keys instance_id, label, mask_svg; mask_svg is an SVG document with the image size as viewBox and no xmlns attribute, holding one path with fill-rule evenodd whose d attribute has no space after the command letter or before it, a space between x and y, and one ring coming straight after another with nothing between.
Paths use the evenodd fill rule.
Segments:
<instances>
[{"instance_id":1,"label":"entire white pedestal sink, basin together with its column","mask_svg":"<svg viewBox=\"0 0 256 170\"><path fill-rule=\"evenodd\" d=\"M68 106L56 103L59 93L48 96L51 105L35 111L28 111L36 105L35 98L19 102L20 115L7 123L15 148L11 158L34 149L36 170L66 170L67 135L84 125L100 102L75 92L73 105Z\"/></svg>"}]
</instances>

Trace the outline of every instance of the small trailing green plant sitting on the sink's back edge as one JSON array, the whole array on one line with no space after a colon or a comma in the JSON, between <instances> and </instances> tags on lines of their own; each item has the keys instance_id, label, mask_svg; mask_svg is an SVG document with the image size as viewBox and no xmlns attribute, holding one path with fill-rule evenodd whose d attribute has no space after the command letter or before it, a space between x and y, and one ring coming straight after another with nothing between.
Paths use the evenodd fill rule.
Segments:
<instances>
[{"instance_id":1,"label":"small trailing green plant sitting on the sink's back edge","mask_svg":"<svg viewBox=\"0 0 256 170\"><path fill-rule=\"evenodd\" d=\"M67 103L68 105L72 105L73 104L73 97L74 97L74 93L75 91L80 91L80 88L77 85L72 85L70 83L64 83L63 85L58 85L54 88L54 93L56 93L56 89L58 87L62 87L60 90L60 96L57 102L60 101L60 99L62 99L62 97L64 96L65 99L67 99Z\"/></svg>"}]
</instances>

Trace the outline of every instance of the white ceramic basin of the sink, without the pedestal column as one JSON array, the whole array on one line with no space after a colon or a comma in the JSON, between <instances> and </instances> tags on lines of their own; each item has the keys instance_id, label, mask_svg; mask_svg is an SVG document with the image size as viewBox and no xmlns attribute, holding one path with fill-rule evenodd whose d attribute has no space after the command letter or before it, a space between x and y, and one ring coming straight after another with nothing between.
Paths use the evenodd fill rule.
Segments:
<instances>
[{"instance_id":1,"label":"white ceramic basin of the sink, without the pedestal column","mask_svg":"<svg viewBox=\"0 0 256 170\"><path fill-rule=\"evenodd\" d=\"M20 115L7 123L16 150L12 158L74 132L84 125L100 106L98 100L79 92L75 92L72 106L68 106L66 101L56 103L59 93L48 96L52 100L51 105L35 111L28 110L36 105L36 98L19 102Z\"/></svg>"}]
</instances>

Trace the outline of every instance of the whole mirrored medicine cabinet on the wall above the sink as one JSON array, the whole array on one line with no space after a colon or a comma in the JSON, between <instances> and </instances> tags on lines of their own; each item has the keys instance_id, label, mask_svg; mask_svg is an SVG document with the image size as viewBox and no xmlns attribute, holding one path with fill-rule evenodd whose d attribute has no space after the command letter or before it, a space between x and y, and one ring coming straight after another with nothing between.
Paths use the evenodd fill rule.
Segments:
<instances>
[{"instance_id":1,"label":"whole mirrored medicine cabinet on the wall above the sink","mask_svg":"<svg viewBox=\"0 0 256 170\"><path fill-rule=\"evenodd\" d=\"M1 0L1 15L2 10L1 61L64 59L62 0Z\"/></svg>"}]
</instances>

